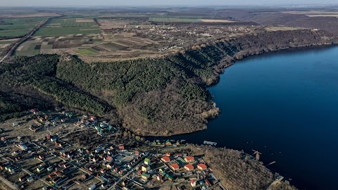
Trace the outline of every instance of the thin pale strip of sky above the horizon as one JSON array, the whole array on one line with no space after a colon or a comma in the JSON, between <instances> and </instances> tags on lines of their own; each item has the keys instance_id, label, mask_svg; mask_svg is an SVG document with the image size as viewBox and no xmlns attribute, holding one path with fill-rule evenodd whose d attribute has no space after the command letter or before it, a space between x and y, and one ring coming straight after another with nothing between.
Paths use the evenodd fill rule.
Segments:
<instances>
[{"instance_id":1,"label":"thin pale strip of sky above the horizon","mask_svg":"<svg viewBox=\"0 0 338 190\"><path fill-rule=\"evenodd\" d=\"M0 6L273 6L328 4L338 4L338 0L0 0Z\"/></svg>"}]
</instances>

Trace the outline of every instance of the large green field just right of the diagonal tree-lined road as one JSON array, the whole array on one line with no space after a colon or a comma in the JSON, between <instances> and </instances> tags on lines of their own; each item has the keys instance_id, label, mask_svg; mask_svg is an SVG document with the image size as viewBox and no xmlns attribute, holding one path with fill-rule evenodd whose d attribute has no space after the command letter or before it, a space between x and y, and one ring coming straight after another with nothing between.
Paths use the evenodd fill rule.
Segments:
<instances>
[{"instance_id":1,"label":"large green field just right of the diagonal tree-lined road","mask_svg":"<svg viewBox=\"0 0 338 190\"><path fill-rule=\"evenodd\" d=\"M101 30L92 18L54 18L37 30L34 36L99 33L101 33Z\"/></svg>"}]
</instances>

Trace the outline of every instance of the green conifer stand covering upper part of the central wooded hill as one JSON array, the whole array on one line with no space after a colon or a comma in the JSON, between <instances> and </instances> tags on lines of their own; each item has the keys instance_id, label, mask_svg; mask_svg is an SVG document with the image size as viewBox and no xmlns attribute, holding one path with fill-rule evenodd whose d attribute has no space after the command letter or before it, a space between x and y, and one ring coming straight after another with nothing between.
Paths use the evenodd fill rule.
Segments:
<instances>
[{"instance_id":1,"label":"green conifer stand covering upper part of the central wooded hill","mask_svg":"<svg viewBox=\"0 0 338 190\"><path fill-rule=\"evenodd\" d=\"M132 101L137 93L164 89L171 80L187 77L165 59L139 59L113 63L84 63L71 58L58 64L56 76L117 107Z\"/></svg>"}]
</instances>

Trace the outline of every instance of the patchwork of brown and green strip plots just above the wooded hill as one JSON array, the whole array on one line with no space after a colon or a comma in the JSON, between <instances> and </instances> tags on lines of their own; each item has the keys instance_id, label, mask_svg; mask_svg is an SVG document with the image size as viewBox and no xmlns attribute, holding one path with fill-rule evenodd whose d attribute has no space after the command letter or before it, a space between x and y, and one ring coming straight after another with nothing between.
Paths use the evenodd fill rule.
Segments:
<instances>
[{"instance_id":1,"label":"patchwork of brown and green strip plots just above the wooded hill","mask_svg":"<svg viewBox=\"0 0 338 190\"><path fill-rule=\"evenodd\" d=\"M0 41L1 42L1 41ZM68 34L65 36L33 37L21 44L16 56L35 56L39 53L72 53L85 61L108 60L156 55L146 46L158 44L151 39L121 34Z\"/></svg>"}]
</instances>

